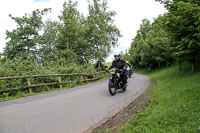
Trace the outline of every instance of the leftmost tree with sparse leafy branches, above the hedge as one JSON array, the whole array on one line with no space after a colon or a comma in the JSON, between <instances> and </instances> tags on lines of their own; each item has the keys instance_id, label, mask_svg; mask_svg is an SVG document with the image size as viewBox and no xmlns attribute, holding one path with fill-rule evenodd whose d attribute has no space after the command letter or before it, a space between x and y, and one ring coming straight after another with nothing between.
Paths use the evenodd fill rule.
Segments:
<instances>
[{"instance_id":1,"label":"leftmost tree with sparse leafy branches, above the hedge","mask_svg":"<svg viewBox=\"0 0 200 133\"><path fill-rule=\"evenodd\" d=\"M6 31L6 47L4 55L6 58L14 59L36 59L39 44L43 43L42 35L39 32L43 28L42 16L50 9L33 11L32 14L25 14L22 18L9 15L17 23L13 31Z\"/></svg>"}]
</instances>

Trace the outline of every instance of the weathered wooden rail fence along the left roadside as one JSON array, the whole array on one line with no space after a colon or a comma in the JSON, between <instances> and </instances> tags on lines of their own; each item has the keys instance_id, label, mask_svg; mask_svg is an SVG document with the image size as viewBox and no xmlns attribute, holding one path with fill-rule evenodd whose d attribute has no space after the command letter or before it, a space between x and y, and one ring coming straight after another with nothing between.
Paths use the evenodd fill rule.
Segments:
<instances>
[{"instance_id":1,"label":"weathered wooden rail fence along the left roadside","mask_svg":"<svg viewBox=\"0 0 200 133\"><path fill-rule=\"evenodd\" d=\"M0 77L0 80L12 80L12 79L26 79L27 80L27 85L28 86L20 86L16 88L6 88L6 89L1 89L0 88L0 93L3 92L8 92L8 91L13 91L13 90L23 90L23 89L29 89L29 93L32 93L32 89L35 87L41 87L41 86L52 86L52 85L59 85L60 88L63 88L63 84L72 84L72 83L80 83L80 82L87 82L87 81L95 81L98 80L102 77L105 77L106 73L105 71L101 72L96 72L96 73L73 73L73 74L46 74L46 75L30 75L30 76L14 76L14 77ZM81 80L78 81L66 81L62 82L62 77L71 77L71 76L81 76ZM92 77L92 78L87 78L84 79L85 77ZM58 77L58 82L53 82L53 83L41 83L41 84L31 84L31 78L36 78L36 77Z\"/></svg>"}]
</instances>

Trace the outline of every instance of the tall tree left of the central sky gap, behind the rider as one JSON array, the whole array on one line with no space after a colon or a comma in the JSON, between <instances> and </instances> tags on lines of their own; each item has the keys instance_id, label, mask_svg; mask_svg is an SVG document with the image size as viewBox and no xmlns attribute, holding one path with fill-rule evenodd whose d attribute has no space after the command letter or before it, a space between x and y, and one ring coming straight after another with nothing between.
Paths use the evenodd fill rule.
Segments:
<instances>
[{"instance_id":1,"label":"tall tree left of the central sky gap, behind the rider","mask_svg":"<svg viewBox=\"0 0 200 133\"><path fill-rule=\"evenodd\" d=\"M118 45L120 31L114 25L114 11L107 11L107 1L93 0L89 4L89 16L87 17L87 40L91 55L97 62L103 62L110 54L112 47Z\"/></svg>"}]
</instances>

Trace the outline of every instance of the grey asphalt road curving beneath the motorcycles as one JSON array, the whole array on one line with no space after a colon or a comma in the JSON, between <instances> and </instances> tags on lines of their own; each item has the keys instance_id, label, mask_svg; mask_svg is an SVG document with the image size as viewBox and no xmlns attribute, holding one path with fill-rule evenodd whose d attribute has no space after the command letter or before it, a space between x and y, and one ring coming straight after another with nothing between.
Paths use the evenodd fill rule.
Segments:
<instances>
[{"instance_id":1,"label":"grey asphalt road curving beneath the motorcycles","mask_svg":"<svg viewBox=\"0 0 200 133\"><path fill-rule=\"evenodd\" d=\"M125 93L111 96L108 80L0 102L0 133L85 133L126 107L148 88L134 74Z\"/></svg>"}]
</instances>

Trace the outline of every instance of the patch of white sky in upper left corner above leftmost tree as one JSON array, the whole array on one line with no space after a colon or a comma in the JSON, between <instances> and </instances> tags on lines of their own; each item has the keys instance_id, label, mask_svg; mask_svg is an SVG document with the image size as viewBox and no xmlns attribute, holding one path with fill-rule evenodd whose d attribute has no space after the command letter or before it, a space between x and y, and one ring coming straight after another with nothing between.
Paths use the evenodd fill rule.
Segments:
<instances>
[{"instance_id":1,"label":"patch of white sky in upper left corner above leftmost tree","mask_svg":"<svg viewBox=\"0 0 200 133\"><path fill-rule=\"evenodd\" d=\"M11 14L14 17L24 16L29 14L35 9L52 8L50 17L56 19L60 11L64 0L51 0L49 2L34 2L33 0L6 0L0 4L1 21L0 21L0 52L5 47L6 30L11 31L16 27L16 23L9 17Z\"/></svg>"}]
</instances>

